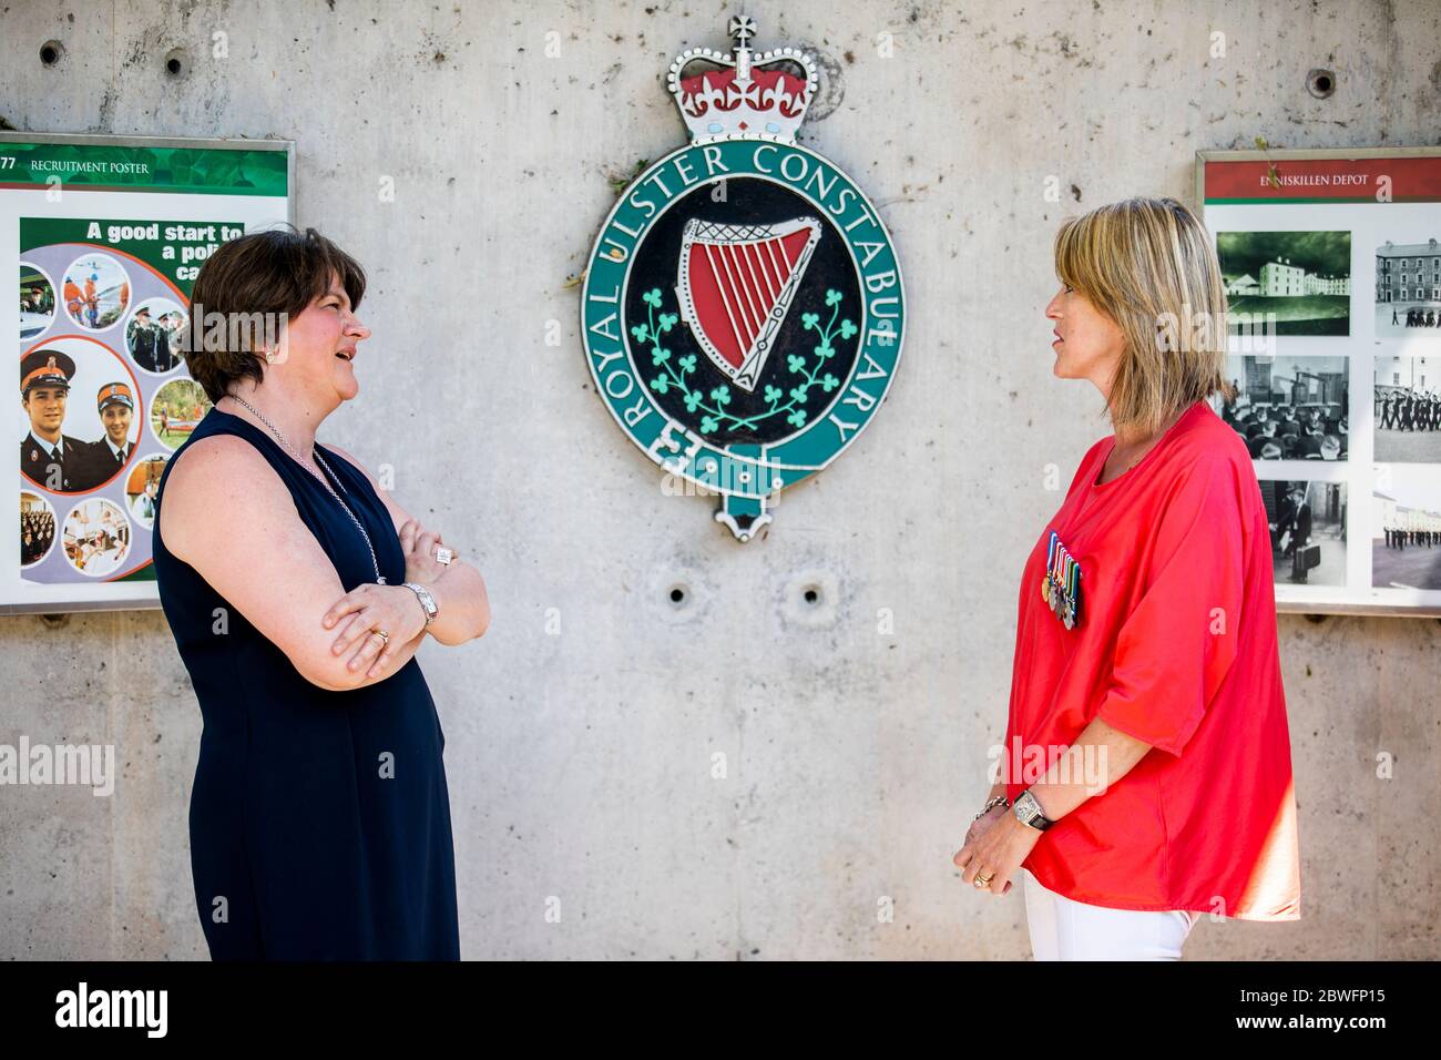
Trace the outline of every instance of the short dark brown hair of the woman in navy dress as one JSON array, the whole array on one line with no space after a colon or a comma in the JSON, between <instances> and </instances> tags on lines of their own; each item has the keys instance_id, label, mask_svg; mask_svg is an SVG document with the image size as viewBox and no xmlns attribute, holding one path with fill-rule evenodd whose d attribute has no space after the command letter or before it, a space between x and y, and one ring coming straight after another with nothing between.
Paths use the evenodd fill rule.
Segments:
<instances>
[{"instance_id":1,"label":"short dark brown hair of the woman in navy dress","mask_svg":"<svg viewBox=\"0 0 1441 1060\"><path fill-rule=\"evenodd\" d=\"M223 398L239 379L261 382L265 361L255 350L264 345L258 320L297 317L311 301L330 290L330 277L350 296L350 309L365 297L365 270L314 228L300 232L294 225L249 232L220 248L200 267L190 290L190 333L203 335L196 349L187 349L190 376L205 388L212 402ZM210 314L225 327L209 327ZM231 322L239 322L232 326Z\"/></svg>"}]
</instances>

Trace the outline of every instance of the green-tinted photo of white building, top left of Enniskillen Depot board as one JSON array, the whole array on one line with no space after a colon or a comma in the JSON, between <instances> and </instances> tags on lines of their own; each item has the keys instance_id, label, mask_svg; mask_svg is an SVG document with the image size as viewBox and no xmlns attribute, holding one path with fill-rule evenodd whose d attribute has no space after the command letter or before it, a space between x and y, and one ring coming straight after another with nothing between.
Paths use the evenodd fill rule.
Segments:
<instances>
[{"instance_id":1,"label":"green-tinted photo of white building, top left of Enniskillen Depot board","mask_svg":"<svg viewBox=\"0 0 1441 1060\"><path fill-rule=\"evenodd\" d=\"M1350 335L1350 232L1216 232L1232 332Z\"/></svg>"}]
</instances>

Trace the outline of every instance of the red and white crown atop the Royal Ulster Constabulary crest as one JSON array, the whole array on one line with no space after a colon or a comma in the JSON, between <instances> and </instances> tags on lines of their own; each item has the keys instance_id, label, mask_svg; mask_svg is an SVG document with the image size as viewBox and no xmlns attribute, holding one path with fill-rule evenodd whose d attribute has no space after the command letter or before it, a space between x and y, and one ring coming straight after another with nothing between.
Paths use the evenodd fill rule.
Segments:
<instances>
[{"instance_id":1,"label":"red and white crown atop the Royal Ulster Constabulary crest","mask_svg":"<svg viewBox=\"0 0 1441 1060\"><path fill-rule=\"evenodd\" d=\"M733 53L687 48L670 63L666 85L693 143L738 137L795 141L816 95L816 61L798 48L757 55L749 45L754 36L755 20L739 14L731 19ZM700 63L715 69L686 76L687 66ZM797 76L794 68L806 76Z\"/></svg>"}]
</instances>

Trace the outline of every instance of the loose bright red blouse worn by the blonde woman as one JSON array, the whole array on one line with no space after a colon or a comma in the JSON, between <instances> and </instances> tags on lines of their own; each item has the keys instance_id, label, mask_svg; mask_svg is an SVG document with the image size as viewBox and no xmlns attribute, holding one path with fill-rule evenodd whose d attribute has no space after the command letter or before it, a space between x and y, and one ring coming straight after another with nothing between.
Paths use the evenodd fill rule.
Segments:
<instances>
[{"instance_id":1,"label":"loose bright red blouse worn by the blonde woman","mask_svg":"<svg viewBox=\"0 0 1441 1060\"><path fill-rule=\"evenodd\" d=\"M1000 777L1014 799L1098 715L1153 750L1023 864L1094 906L1297 920L1271 534L1251 457L1203 401L1098 486L1112 447L1085 454L1026 561ZM1042 599L1052 531L1081 565L1074 629Z\"/></svg>"}]
</instances>

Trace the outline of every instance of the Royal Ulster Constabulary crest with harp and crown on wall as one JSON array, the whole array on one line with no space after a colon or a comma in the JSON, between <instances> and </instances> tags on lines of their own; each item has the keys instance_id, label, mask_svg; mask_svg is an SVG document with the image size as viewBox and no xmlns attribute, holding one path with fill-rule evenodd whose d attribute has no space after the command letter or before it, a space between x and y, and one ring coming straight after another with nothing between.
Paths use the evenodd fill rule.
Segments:
<instances>
[{"instance_id":1,"label":"Royal Ulster Constabulary crest with harp and crown on wall","mask_svg":"<svg viewBox=\"0 0 1441 1060\"><path fill-rule=\"evenodd\" d=\"M840 456L895 378L901 264L875 206L795 143L817 88L794 48L692 48L669 88L690 143L601 226L581 301L586 361L621 430L672 480L720 496L741 541L775 495ZM696 492L676 489L673 492Z\"/></svg>"}]
</instances>

